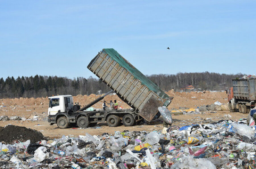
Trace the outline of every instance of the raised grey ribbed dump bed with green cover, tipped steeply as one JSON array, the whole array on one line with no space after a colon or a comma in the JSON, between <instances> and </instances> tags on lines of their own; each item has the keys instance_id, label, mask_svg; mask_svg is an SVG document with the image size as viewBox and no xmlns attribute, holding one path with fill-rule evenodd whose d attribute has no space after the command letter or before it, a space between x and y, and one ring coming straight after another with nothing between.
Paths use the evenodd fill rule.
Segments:
<instances>
[{"instance_id":1,"label":"raised grey ribbed dump bed with green cover, tipped steeply","mask_svg":"<svg viewBox=\"0 0 256 169\"><path fill-rule=\"evenodd\" d=\"M149 122L159 106L168 106L173 99L113 48L103 49L87 68Z\"/></svg>"}]
</instances>

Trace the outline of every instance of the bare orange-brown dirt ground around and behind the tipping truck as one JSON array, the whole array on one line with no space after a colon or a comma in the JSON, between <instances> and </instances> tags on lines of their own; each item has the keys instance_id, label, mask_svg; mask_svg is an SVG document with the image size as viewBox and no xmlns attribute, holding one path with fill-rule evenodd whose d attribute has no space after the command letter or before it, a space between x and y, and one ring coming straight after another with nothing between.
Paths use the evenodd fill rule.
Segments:
<instances>
[{"instance_id":1,"label":"bare orange-brown dirt ground around and behind the tipping truck","mask_svg":"<svg viewBox=\"0 0 256 169\"><path fill-rule=\"evenodd\" d=\"M216 101L221 103L227 103L228 100L226 92L166 92L168 95L173 96L174 99L172 103L168 106L168 109L179 107L187 108L196 108L201 105L212 104ZM79 102L80 105L86 105L98 98L94 94L89 96L74 96L74 102ZM130 108L129 105L124 103L117 95L107 96L105 98L106 102L109 103L110 100L117 100L119 105L124 109ZM97 103L93 107L100 109L102 102ZM32 128L38 130L50 138L59 138L62 135L85 135L86 133L92 135L101 135L102 133L113 134L115 131L153 131L153 130L162 130L162 119L158 121L151 122L150 124L139 124L135 126L117 126L117 127L108 127L106 123L98 124L97 128L87 128L80 129L69 127L66 129L57 128L56 124L52 126L47 122L47 109L48 109L48 98L15 98L15 99L0 99L0 116L20 116L23 118L22 121L1 121L0 126L5 126L7 124L13 124L18 126L25 126L27 128ZM230 114L232 117L228 117L227 114ZM38 120L32 121L34 115L38 116ZM184 126L189 124L203 124L207 122L216 122L222 119L232 119L239 120L241 118L247 118L248 114L241 114L239 112L230 113L229 111L218 111L216 113L202 112L202 114L186 114L186 115L174 115L174 122L172 126Z\"/></svg>"}]
</instances>

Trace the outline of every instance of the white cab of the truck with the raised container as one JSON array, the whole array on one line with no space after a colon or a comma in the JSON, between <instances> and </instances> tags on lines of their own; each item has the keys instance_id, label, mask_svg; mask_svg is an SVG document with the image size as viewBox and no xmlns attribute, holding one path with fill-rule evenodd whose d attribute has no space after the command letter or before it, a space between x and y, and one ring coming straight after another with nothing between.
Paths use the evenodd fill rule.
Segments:
<instances>
[{"instance_id":1,"label":"white cab of the truck with the raised container","mask_svg":"<svg viewBox=\"0 0 256 169\"><path fill-rule=\"evenodd\" d=\"M73 97L71 95L51 96L49 99L48 115L56 115L73 109Z\"/></svg>"}]
</instances>

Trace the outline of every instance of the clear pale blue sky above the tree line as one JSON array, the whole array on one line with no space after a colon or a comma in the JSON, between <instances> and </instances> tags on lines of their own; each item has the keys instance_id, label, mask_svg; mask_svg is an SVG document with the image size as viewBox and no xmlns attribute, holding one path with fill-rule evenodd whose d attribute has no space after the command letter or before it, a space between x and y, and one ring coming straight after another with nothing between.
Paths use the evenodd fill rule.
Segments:
<instances>
[{"instance_id":1,"label":"clear pale blue sky above the tree line","mask_svg":"<svg viewBox=\"0 0 256 169\"><path fill-rule=\"evenodd\" d=\"M1 77L96 77L86 66L102 48L145 75L255 74L255 7L253 0L0 0Z\"/></svg>"}]
</instances>

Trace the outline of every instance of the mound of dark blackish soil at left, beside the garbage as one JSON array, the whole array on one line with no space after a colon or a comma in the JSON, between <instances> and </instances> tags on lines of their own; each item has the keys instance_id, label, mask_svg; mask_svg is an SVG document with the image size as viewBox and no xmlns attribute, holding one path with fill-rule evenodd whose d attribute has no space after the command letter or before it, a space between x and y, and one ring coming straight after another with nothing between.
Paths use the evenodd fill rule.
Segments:
<instances>
[{"instance_id":1,"label":"mound of dark blackish soil at left, beside the garbage","mask_svg":"<svg viewBox=\"0 0 256 169\"><path fill-rule=\"evenodd\" d=\"M41 140L47 140L47 138L42 133L26 127L14 125L0 127L0 141L13 143L16 140L21 142L30 140L31 143L36 143Z\"/></svg>"}]
</instances>

